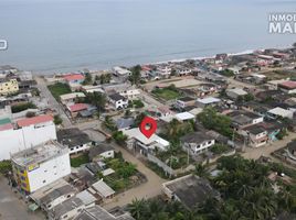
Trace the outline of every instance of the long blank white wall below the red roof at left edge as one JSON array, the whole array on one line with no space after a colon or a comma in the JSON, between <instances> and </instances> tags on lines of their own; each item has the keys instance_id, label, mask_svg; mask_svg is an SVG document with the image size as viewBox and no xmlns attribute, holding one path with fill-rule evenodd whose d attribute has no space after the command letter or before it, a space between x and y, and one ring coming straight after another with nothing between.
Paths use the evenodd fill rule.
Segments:
<instances>
[{"instance_id":1,"label":"long blank white wall below the red roof at left edge","mask_svg":"<svg viewBox=\"0 0 296 220\"><path fill-rule=\"evenodd\" d=\"M10 153L41 144L50 140L56 140L56 130L53 122L25 127L19 130L0 131L0 161L9 160Z\"/></svg>"}]
</instances>

